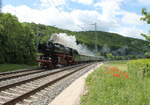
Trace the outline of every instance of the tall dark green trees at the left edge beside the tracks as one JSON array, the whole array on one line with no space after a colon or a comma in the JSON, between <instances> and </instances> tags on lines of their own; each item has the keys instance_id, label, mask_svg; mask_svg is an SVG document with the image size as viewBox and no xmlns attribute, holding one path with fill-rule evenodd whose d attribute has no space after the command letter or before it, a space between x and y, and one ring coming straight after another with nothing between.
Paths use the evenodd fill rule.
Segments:
<instances>
[{"instance_id":1,"label":"tall dark green trees at the left edge beside the tracks","mask_svg":"<svg viewBox=\"0 0 150 105\"><path fill-rule=\"evenodd\" d=\"M0 14L0 63L31 63L35 60L34 36L28 25L11 14Z\"/></svg>"}]
</instances>

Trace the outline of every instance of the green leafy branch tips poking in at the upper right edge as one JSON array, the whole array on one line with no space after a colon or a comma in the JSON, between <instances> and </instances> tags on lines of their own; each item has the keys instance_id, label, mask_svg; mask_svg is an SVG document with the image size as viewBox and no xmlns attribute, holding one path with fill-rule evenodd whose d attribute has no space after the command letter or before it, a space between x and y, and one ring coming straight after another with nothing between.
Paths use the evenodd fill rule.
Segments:
<instances>
[{"instance_id":1,"label":"green leafy branch tips poking in at the upper right edge","mask_svg":"<svg viewBox=\"0 0 150 105\"><path fill-rule=\"evenodd\" d=\"M142 9L142 15L143 17L141 18L141 20L146 21L147 24L150 24L150 13L147 12L145 8ZM141 34L141 35L144 36L146 40L150 41L150 31L148 32L147 35L145 34Z\"/></svg>"}]
</instances>

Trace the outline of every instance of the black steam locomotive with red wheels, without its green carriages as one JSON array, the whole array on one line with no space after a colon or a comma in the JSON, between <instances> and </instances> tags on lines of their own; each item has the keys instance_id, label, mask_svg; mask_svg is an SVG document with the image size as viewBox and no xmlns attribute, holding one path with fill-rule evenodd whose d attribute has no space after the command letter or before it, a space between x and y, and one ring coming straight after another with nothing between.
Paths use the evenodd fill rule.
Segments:
<instances>
[{"instance_id":1,"label":"black steam locomotive with red wheels, without its green carriages","mask_svg":"<svg viewBox=\"0 0 150 105\"><path fill-rule=\"evenodd\" d=\"M38 51L42 53L38 60L42 68L54 68L58 65L65 66L74 63L72 49L59 43L49 41L48 43L39 44Z\"/></svg>"}]
</instances>

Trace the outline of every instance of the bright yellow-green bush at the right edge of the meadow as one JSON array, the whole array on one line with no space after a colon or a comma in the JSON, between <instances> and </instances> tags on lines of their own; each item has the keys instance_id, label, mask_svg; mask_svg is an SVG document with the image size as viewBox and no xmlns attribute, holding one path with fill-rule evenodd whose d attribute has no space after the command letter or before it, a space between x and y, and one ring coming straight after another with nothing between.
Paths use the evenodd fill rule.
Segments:
<instances>
[{"instance_id":1,"label":"bright yellow-green bush at the right edge of the meadow","mask_svg":"<svg viewBox=\"0 0 150 105\"><path fill-rule=\"evenodd\" d=\"M128 70L137 76L150 76L150 59L131 60Z\"/></svg>"}]
</instances>

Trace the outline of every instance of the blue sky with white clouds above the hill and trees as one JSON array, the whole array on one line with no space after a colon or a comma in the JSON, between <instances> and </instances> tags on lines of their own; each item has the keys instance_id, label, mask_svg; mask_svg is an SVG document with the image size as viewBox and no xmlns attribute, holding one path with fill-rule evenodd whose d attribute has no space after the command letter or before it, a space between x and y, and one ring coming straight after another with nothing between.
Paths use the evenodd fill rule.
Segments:
<instances>
[{"instance_id":1,"label":"blue sky with white clouds above the hill and trees","mask_svg":"<svg viewBox=\"0 0 150 105\"><path fill-rule=\"evenodd\" d=\"M149 25L140 21L150 0L3 0L3 12L21 22L56 25L73 31L97 30L142 38Z\"/></svg>"}]
</instances>

